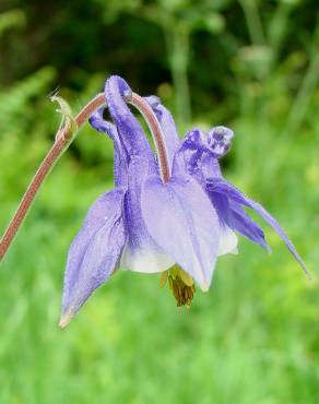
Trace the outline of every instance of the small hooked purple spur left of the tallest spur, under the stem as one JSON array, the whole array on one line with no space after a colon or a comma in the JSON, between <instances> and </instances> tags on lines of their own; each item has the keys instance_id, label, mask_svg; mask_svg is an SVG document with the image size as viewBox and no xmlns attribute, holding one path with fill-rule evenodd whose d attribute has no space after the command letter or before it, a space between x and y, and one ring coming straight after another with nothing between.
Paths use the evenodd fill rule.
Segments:
<instances>
[{"instance_id":1,"label":"small hooked purple spur left of the tallest spur, under the stem","mask_svg":"<svg viewBox=\"0 0 319 404\"><path fill-rule=\"evenodd\" d=\"M114 177L116 187L127 187L129 157L119 138L116 126L103 119L104 107L93 112L88 122L98 132L106 133L114 141Z\"/></svg>"}]
</instances>

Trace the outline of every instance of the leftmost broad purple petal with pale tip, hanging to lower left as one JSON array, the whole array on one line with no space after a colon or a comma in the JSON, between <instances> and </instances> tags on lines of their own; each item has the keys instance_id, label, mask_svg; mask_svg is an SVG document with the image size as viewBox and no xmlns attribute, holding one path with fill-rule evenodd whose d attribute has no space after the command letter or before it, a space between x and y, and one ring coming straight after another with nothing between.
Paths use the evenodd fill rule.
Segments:
<instances>
[{"instance_id":1,"label":"leftmost broad purple petal with pale tip, hanging to lower left","mask_svg":"<svg viewBox=\"0 0 319 404\"><path fill-rule=\"evenodd\" d=\"M114 190L97 199L70 247L64 275L61 326L67 325L93 290L117 268L126 242L122 222L123 195L123 191Z\"/></svg>"}]
</instances>

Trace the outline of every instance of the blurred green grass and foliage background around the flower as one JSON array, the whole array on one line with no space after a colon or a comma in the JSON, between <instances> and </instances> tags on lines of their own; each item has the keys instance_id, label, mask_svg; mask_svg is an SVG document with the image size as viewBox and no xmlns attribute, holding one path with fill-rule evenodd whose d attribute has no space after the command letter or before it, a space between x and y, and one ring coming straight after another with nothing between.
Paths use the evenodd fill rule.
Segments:
<instances>
[{"instance_id":1,"label":"blurred green grass and foliage background around the flower","mask_svg":"<svg viewBox=\"0 0 319 404\"><path fill-rule=\"evenodd\" d=\"M180 135L235 130L226 178L314 276L264 226L273 253L241 238L190 310L157 275L118 272L59 330L68 246L113 187L111 143L86 124L1 264L1 404L319 403L318 16L317 0L1 0L1 230L59 126L49 96L78 111L117 73Z\"/></svg>"}]
</instances>

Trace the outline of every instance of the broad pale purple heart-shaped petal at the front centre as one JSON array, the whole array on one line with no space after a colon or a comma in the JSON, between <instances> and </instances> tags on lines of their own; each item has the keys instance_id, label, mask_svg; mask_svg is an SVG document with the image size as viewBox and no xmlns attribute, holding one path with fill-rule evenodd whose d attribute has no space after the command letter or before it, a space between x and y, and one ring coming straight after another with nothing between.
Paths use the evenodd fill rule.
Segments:
<instances>
[{"instance_id":1,"label":"broad pale purple heart-shaped petal at the front centre","mask_svg":"<svg viewBox=\"0 0 319 404\"><path fill-rule=\"evenodd\" d=\"M150 178L142 190L142 214L156 243L203 289L212 280L220 241L215 210L190 177L164 185Z\"/></svg>"}]
</instances>

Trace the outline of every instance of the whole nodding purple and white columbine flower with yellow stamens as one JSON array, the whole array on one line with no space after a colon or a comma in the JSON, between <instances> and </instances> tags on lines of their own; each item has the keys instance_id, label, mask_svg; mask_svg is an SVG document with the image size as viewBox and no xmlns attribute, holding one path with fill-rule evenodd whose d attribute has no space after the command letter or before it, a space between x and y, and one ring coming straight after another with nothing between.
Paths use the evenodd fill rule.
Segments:
<instances>
[{"instance_id":1,"label":"whole nodding purple and white columbine flower with yellow stamens","mask_svg":"<svg viewBox=\"0 0 319 404\"><path fill-rule=\"evenodd\" d=\"M192 130L180 141L173 117L160 99L141 98L162 128L162 153L169 175L164 178L161 162L127 105L131 96L125 80L110 76L105 100L114 123L103 118L104 108L90 118L91 124L114 142L116 188L92 205L70 247L61 326L119 268L163 272L178 305L189 305L193 282L206 290L216 258L237 251L235 231L268 248L262 229L243 205L257 211L279 233L305 269L275 219L223 179L217 159L231 146L229 129L217 127L206 134Z\"/></svg>"}]
</instances>

